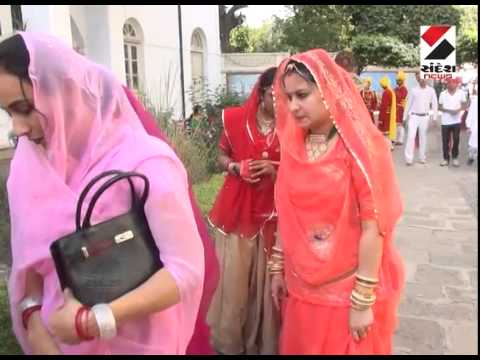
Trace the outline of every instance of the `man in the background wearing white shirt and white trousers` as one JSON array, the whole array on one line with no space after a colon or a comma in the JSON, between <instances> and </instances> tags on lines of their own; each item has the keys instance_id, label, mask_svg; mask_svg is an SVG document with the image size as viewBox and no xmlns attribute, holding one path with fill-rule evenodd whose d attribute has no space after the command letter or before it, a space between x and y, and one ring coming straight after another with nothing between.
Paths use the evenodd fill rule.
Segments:
<instances>
[{"instance_id":1,"label":"man in the background wearing white shirt and white trousers","mask_svg":"<svg viewBox=\"0 0 480 360\"><path fill-rule=\"evenodd\" d=\"M404 122L408 124L407 143L405 145L405 161L407 165L413 164L415 149L415 136L419 135L419 161L427 161L427 129L430 120L429 112L433 111L433 118L437 118L438 102L435 90L427 85L425 79L420 78L420 73L415 74L419 86L413 88L408 94L407 109Z\"/></svg>"}]
</instances>

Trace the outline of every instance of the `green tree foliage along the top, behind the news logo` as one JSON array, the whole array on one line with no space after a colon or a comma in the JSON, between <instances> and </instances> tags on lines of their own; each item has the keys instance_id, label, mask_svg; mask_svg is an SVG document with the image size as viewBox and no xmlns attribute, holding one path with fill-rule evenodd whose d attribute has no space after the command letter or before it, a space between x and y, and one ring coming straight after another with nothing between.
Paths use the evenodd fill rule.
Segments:
<instances>
[{"instance_id":1,"label":"green tree foliage along the top, behind the news logo","mask_svg":"<svg viewBox=\"0 0 480 360\"><path fill-rule=\"evenodd\" d=\"M370 64L370 61L373 61L383 66L418 64L419 53L416 47L420 43L420 26L459 25L462 17L462 11L456 5L287 7L291 11L291 16L282 21L282 30L283 42L289 50L305 51L322 47L333 52L355 48L354 57L360 57L360 60L356 59L357 62L369 61L367 64ZM472 36L462 41L469 44L468 46L473 43ZM366 54L364 52L366 49L373 54ZM386 51L395 55L389 56ZM413 61L413 56L416 56L416 61Z\"/></svg>"}]
</instances>

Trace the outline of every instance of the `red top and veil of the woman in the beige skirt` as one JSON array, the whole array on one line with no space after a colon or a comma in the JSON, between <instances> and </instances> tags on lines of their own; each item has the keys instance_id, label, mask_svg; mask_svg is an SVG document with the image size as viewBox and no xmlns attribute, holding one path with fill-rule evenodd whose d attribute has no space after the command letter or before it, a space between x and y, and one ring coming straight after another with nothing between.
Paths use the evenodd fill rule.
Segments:
<instances>
[{"instance_id":1,"label":"red top and veil of the woman in the beige skirt","mask_svg":"<svg viewBox=\"0 0 480 360\"><path fill-rule=\"evenodd\" d=\"M226 108L223 112L224 130L219 148L235 162L260 160L265 155L269 160L280 160L276 133L265 136L257 128L258 103L257 84L243 106ZM254 237L275 216L273 187L271 177L265 176L258 183L249 184L228 174L210 211L210 222L224 233ZM271 236L268 238L270 242Z\"/></svg>"}]
</instances>

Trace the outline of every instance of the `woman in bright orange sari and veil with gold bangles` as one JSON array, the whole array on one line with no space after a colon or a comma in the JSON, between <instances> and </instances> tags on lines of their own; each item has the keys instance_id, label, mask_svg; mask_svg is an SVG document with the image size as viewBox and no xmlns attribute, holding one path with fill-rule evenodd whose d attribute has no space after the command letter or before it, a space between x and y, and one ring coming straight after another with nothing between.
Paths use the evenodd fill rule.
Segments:
<instances>
[{"instance_id":1,"label":"woman in bright orange sari and veil with gold bangles","mask_svg":"<svg viewBox=\"0 0 480 360\"><path fill-rule=\"evenodd\" d=\"M404 270L392 241L402 202L388 140L323 50L284 60L274 99L279 352L390 354Z\"/></svg>"}]
</instances>

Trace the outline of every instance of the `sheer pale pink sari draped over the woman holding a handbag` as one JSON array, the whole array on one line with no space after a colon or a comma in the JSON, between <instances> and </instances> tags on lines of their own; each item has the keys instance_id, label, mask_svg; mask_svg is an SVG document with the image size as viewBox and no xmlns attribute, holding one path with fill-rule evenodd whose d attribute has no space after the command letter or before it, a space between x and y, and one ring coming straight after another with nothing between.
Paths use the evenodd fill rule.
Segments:
<instances>
[{"instance_id":1,"label":"sheer pale pink sari draped over the woman holding a handbag","mask_svg":"<svg viewBox=\"0 0 480 360\"><path fill-rule=\"evenodd\" d=\"M29 353L16 308L25 295L26 272L33 269L44 279L42 318L48 325L52 311L63 303L49 246L75 230L76 202L84 186L105 170L132 170L142 166L150 180L150 196L158 195L159 191L181 194L186 191L186 174L173 150L146 133L122 85L109 70L50 35L31 32L20 32L20 35L30 56L28 71L34 105L44 115L41 126L47 144L43 148L25 137L20 138L7 183L12 229L13 263L9 279L12 323L19 343ZM168 180L165 174L171 174L170 179L176 181ZM109 189L102 195L101 202L108 206L99 204L95 208L92 217L95 223L130 208L128 186L118 184ZM165 206L152 207L147 201L146 216L165 219ZM172 209L172 214L174 212ZM203 279L203 258L200 261L198 256L203 247L198 232L192 230L193 214L183 220L184 228L169 229L177 238L192 238L191 242L178 242L174 246L176 254L182 254L181 264L171 243L157 242L165 268L178 280L181 302L155 314L155 321L146 317L123 324L119 335L109 342L113 353L182 353L187 348L203 283L195 281L185 288L189 284L182 282L181 276L186 276L188 271L189 276ZM150 226L155 239L159 240L163 235L159 234L158 224ZM146 332L150 336L145 336ZM59 346L66 354L106 351L104 343L98 340Z\"/></svg>"}]
</instances>

